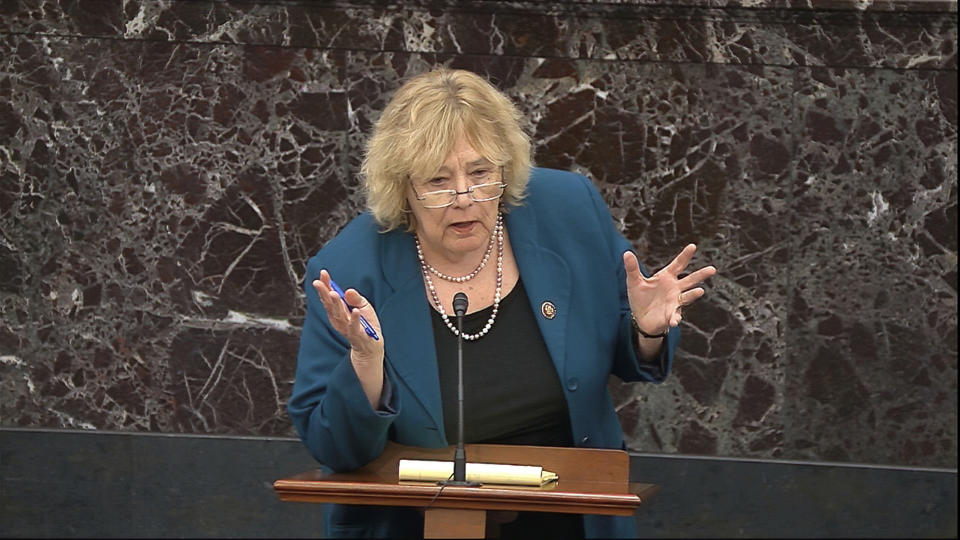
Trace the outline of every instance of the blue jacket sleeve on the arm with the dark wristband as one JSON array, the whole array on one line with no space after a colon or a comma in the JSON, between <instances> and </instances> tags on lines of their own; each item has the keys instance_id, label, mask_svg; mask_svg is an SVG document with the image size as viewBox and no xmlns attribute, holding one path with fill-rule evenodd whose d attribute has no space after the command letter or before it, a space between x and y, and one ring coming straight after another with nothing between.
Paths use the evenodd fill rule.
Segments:
<instances>
[{"instance_id":1,"label":"blue jacket sleeve on the arm with the dark wristband","mask_svg":"<svg viewBox=\"0 0 960 540\"><path fill-rule=\"evenodd\" d=\"M600 222L603 236L607 240L607 246L610 252L610 263L615 266L618 286L620 290L620 327L617 334L617 347L613 361L612 373L623 381L644 381L644 382L663 382L670 373L670 367L673 364L674 351L680 340L680 328L671 328L664 339L663 346L660 349L659 357L653 362L643 362L634 347L636 336L633 330L633 321L630 314L630 302L627 298L627 273L623 268L623 253L633 251L630 242L617 229L607 208L606 202L600 196L600 192L588 178L580 176L586 184L587 192L590 194L590 200L593 204L593 210ZM637 260L640 256L637 255ZM640 263L640 272L644 276L650 276L650 273Z\"/></svg>"}]
</instances>

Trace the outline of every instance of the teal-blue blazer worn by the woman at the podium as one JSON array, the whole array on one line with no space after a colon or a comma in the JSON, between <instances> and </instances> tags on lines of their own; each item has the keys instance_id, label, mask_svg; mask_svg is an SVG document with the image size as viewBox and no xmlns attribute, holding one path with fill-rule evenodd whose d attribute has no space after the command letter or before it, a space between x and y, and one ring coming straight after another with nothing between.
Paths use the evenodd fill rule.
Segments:
<instances>
[{"instance_id":1,"label":"teal-blue blazer worn by the woman at the podium","mask_svg":"<svg viewBox=\"0 0 960 540\"><path fill-rule=\"evenodd\" d=\"M520 277L563 385L575 444L626 448L608 378L662 381L679 329L670 331L658 362L637 361L622 259L630 243L584 176L533 169L527 197L504 218ZM369 405L350 364L349 343L330 326L310 284L324 268L343 289L357 289L377 310L389 388L382 410ZM287 409L313 457L328 469L348 471L377 458L387 440L446 447L432 308L413 235L380 232L369 213L361 214L310 259L304 289L307 313ZM548 301L556 307L552 319L541 311ZM416 518L404 509L325 505L324 534L416 535ZM419 527L422 531L422 520ZM588 537L635 536L629 517L584 516L584 528Z\"/></svg>"}]
</instances>

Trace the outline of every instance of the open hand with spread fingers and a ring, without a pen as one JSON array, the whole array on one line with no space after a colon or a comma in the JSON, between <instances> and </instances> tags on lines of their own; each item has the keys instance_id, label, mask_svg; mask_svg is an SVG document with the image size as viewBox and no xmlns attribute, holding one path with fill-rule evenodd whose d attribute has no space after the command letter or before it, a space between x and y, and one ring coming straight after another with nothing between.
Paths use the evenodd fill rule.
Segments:
<instances>
[{"instance_id":1,"label":"open hand with spread fingers and a ring, without a pen","mask_svg":"<svg viewBox=\"0 0 960 540\"><path fill-rule=\"evenodd\" d=\"M687 244L670 264L650 277L640 272L637 256L632 251L623 253L630 309L637 326L647 334L662 334L679 325L682 308L705 294L699 285L716 274L716 268L705 266L680 277L696 251L697 246Z\"/></svg>"}]
</instances>

